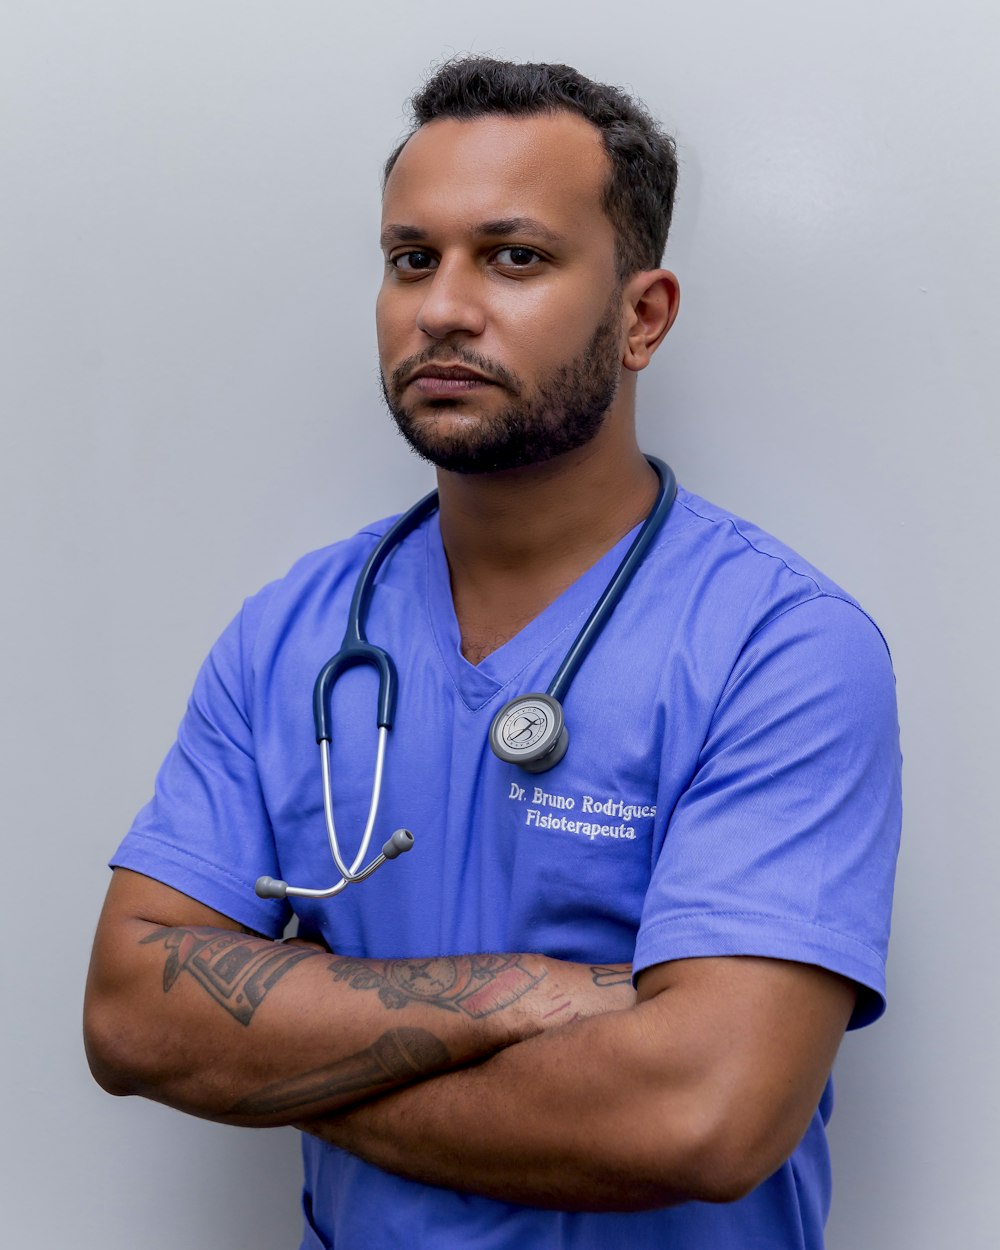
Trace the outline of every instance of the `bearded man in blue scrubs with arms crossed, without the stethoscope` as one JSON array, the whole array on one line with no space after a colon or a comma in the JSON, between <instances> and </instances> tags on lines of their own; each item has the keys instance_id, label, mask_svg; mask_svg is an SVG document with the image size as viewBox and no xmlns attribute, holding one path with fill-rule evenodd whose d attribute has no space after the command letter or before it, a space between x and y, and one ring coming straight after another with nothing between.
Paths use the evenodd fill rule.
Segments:
<instances>
[{"instance_id":1,"label":"bearded man in blue scrubs with arms crossed, without the stethoscope","mask_svg":"<svg viewBox=\"0 0 1000 1250\"><path fill-rule=\"evenodd\" d=\"M882 1009L899 832L885 645L774 539L681 490L530 774L490 752L650 511L635 382L679 288L672 144L565 66L468 59L390 158L385 398L440 508L368 636L399 702L379 841L336 880L310 696L386 525L249 600L119 849L88 992L106 1089L305 1130L302 1246L816 1248L829 1072ZM375 676L329 699L365 826ZM332 954L331 954L332 952ZM634 984L634 989L632 989Z\"/></svg>"}]
</instances>

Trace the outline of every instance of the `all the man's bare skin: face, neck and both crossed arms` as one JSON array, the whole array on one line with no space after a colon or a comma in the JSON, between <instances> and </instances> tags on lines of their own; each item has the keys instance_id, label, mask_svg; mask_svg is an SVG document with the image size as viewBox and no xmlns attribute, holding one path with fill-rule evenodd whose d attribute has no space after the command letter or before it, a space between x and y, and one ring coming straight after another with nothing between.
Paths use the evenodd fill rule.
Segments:
<instances>
[{"instance_id":1,"label":"all the man's bare skin: face, neck and both crossed arms","mask_svg":"<svg viewBox=\"0 0 1000 1250\"><path fill-rule=\"evenodd\" d=\"M425 126L386 186L379 351L390 400L426 444L481 446L511 405L571 421L552 379L588 359L599 328L620 359L591 436L538 462L439 470L472 662L655 494L635 379L676 316L678 282L661 269L619 281L606 172L576 116L494 118ZM246 970L235 981L231 944ZM770 1175L815 1111L854 1000L821 969L750 958L661 964L638 994L620 966L534 954L344 960L242 934L118 870L85 1032L111 1092L234 1124L294 1122L432 1185L630 1210L730 1201Z\"/></svg>"}]
</instances>

